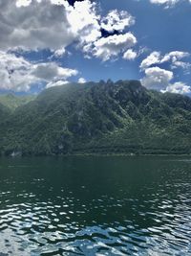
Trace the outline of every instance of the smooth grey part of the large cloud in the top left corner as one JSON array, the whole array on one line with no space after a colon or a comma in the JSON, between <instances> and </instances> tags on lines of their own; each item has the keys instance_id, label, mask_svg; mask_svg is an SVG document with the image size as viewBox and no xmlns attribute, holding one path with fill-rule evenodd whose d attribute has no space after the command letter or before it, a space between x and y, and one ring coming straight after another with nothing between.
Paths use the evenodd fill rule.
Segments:
<instances>
[{"instance_id":1,"label":"smooth grey part of the large cloud in the top left corner","mask_svg":"<svg viewBox=\"0 0 191 256\"><path fill-rule=\"evenodd\" d=\"M74 41L64 6L51 0L24 2L0 0L1 50L57 50Z\"/></svg>"}]
</instances>

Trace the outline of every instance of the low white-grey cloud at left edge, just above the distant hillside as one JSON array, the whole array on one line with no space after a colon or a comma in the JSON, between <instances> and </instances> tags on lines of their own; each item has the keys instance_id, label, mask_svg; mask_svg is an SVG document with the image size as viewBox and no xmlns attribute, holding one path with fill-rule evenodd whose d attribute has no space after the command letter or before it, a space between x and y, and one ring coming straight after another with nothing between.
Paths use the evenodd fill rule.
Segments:
<instances>
[{"instance_id":1,"label":"low white-grey cloud at left edge, just above the distant hillside","mask_svg":"<svg viewBox=\"0 0 191 256\"><path fill-rule=\"evenodd\" d=\"M66 81L76 74L76 70L63 68L54 62L32 63L0 51L0 89L29 91L33 84Z\"/></svg>"}]
</instances>

